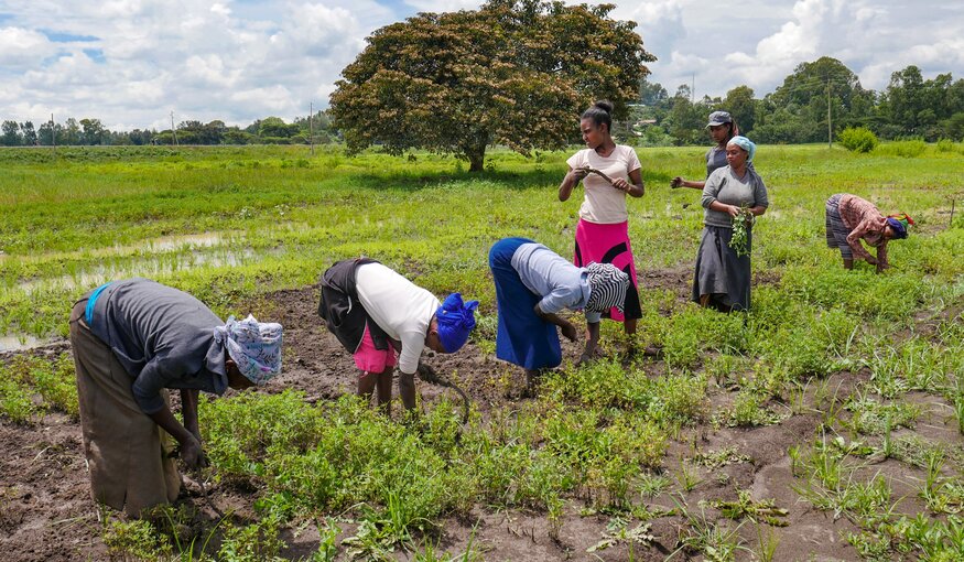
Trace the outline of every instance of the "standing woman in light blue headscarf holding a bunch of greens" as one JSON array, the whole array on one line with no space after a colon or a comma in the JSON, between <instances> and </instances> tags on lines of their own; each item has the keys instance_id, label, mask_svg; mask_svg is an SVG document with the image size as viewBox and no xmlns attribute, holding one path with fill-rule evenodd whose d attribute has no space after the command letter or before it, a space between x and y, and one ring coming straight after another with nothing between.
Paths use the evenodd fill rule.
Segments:
<instances>
[{"instance_id":1,"label":"standing woman in light blue headscarf holding a bunch of greens","mask_svg":"<svg viewBox=\"0 0 964 562\"><path fill-rule=\"evenodd\" d=\"M710 174L703 187L703 236L696 253L693 301L722 311L750 307L750 250L752 223L746 228L745 247L734 248L734 223L746 220L743 209L754 217L767 212L770 202L763 180L750 162L756 144L746 137L734 137L726 144L727 166Z\"/></svg>"}]
</instances>

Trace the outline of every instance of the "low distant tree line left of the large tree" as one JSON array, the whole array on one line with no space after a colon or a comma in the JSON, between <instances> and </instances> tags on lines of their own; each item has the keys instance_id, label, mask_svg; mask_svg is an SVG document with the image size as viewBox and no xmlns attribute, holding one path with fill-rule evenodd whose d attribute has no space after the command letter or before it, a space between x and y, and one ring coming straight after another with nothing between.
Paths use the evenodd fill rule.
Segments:
<instances>
[{"instance_id":1,"label":"low distant tree line left of the large tree","mask_svg":"<svg viewBox=\"0 0 964 562\"><path fill-rule=\"evenodd\" d=\"M224 121L182 121L171 129L134 129L111 131L99 119L68 118L63 123L45 121L40 127L33 121L6 120L0 123L0 145L144 145L144 144L307 144L311 136L315 144L340 140L324 111L308 118L296 118L285 123L280 117L258 119L243 129L228 127ZM176 141L175 141L176 139Z\"/></svg>"}]
</instances>

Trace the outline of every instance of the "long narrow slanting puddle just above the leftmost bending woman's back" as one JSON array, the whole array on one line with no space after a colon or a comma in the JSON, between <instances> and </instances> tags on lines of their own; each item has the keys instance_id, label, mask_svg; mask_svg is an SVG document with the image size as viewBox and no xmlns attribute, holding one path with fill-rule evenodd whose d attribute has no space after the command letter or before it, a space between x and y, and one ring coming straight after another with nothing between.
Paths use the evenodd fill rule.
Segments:
<instances>
[{"instance_id":1,"label":"long narrow slanting puddle just above the leftmost bending woman's back","mask_svg":"<svg viewBox=\"0 0 964 562\"><path fill-rule=\"evenodd\" d=\"M67 289L84 291L115 279L131 277L152 277L158 273L169 273L199 266L239 266L252 258L254 252L250 249L218 253L188 253L186 256L167 256L149 258L136 263L119 267L100 267L94 270L82 271L73 275L57 278L34 279L19 283L15 289L28 294L41 289Z\"/></svg>"}]
</instances>

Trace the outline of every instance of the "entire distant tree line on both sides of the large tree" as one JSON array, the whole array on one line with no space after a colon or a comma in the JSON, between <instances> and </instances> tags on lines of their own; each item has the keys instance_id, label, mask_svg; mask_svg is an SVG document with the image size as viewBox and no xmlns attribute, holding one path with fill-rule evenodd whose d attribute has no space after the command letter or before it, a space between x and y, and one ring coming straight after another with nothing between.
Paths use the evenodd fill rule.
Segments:
<instances>
[{"instance_id":1,"label":"entire distant tree line on both sides of the large tree","mask_svg":"<svg viewBox=\"0 0 964 562\"><path fill-rule=\"evenodd\" d=\"M830 104L830 127L827 125ZM670 96L646 78L639 97L629 105L629 117L615 131L624 141L639 145L706 144L706 116L729 111L740 132L762 143L826 142L848 127L865 127L881 139L917 138L964 140L964 79L950 73L924 79L917 66L895 72L882 91L865 89L857 75L836 58L801 63L783 84L762 99L748 86L737 86L726 96L692 100L690 86L681 85ZM574 118L573 118L574 119ZM340 131L328 111L312 118L314 142L340 142ZM575 128L573 128L575 132ZM93 144L307 144L308 118L286 123L279 117L258 119L248 127L228 127L224 121L183 121L173 131L134 129L111 131L98 119L69 118L63 123L6 120L0 123L0 145ZM573 137L573 142L577 139Z\"/></svg>"}]
</instances>

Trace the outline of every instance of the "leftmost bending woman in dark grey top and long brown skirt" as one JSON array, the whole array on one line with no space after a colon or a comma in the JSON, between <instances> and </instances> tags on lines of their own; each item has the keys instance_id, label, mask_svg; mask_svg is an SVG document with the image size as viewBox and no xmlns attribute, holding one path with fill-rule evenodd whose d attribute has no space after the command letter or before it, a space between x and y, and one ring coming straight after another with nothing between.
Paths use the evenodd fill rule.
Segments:
<instances>
[{"instance_id":1,"label":"leftmost bending woman in dark grey top and long brown skirt","mask_svg":"<svg viewBox=\"0 0 964 562\"><path fill-rule=\"evenodd\" d=\"M227 323L194 296L149 279L112 281L71 314L84 453L95 501L138 516L173 501L181 475L204 466L197 398L263 385L281 372L280 324ZM181 390L183 424L166 389Z\"/></svg>"}]
</instances>

